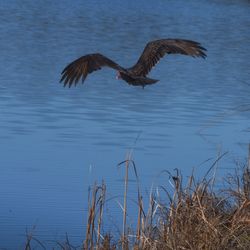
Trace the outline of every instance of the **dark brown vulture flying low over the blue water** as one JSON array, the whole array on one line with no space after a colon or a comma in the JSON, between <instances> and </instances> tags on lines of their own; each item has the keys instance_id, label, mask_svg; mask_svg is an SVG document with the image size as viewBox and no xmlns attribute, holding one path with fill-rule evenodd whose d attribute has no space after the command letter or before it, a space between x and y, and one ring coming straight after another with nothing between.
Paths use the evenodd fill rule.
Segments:
<instances>
[{"instance_id":1,"label":"dark brown vulture flying low over the blue water","mask_svg":"<svg viewBox=\"0 0 250 250\"><path fill-rule=\"evenodd\" d=\"M192 57L206 58L206 49L200 43L185 39L159 39L146 44L136 64L130 68L124 68L110 58L100 54L87 54L68 64L61 73L60 82L71 87L79 80L82 83L88 74L100 70L102 67L110 67L117 71L116 79L122 79L129 85L142 86L154 84L159 80L147 77L151 69L159 60L167 54L182 54Z\"/></svg>"}]
</instances>

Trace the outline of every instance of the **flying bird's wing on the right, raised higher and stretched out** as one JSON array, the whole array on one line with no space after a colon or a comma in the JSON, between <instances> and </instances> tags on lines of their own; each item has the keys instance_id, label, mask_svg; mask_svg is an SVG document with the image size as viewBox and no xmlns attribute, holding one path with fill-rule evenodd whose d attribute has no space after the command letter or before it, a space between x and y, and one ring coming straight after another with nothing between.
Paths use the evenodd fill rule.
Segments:
<instances>
[{"instance_id":1,"label":"flying bird's wing on the right, raised higher and stretched out","mask_svg":"<svg viewBox=\"0 0 250 250\"><path fill-rule=\"evenodd\" d=\"M206 49L200 43L183 39L161 39L149 42L137 63L129 69L137 76L146 76L153 66L166 54L183 54L206 57Z\"/></svg>"}]
</instances>

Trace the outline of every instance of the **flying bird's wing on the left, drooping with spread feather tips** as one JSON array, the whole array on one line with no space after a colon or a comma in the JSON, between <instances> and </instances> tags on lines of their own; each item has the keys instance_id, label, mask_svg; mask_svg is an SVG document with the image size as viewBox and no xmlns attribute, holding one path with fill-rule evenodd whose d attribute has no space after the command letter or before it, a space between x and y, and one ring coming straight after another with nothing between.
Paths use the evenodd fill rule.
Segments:
<instances>
[{"instance_id":1,"label":"flying bird's wing on the left, drooping with spread feather tips","mask_svg":"<svg viewBox=\"0 0 250 250\"><path fill-rule=\"evenodd\" d=\"M84 82L88 74L99 70L104 66L124 71L120 65L102 54L88 54L67 65L62 71L62 78L60 82L64 82L64 86L68 84L69 87L73 83L76 85L80 78L82 78L82 82Z\"/></svg>"}]
</instances>

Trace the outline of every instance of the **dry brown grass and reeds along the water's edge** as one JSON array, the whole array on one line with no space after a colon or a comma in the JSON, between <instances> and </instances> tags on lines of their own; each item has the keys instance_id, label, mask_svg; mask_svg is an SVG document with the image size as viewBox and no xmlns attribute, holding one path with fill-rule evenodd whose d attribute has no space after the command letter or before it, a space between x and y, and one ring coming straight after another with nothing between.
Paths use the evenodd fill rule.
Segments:
<instances>
[{"instance_id":1,"label":"dry brown grass and reeds along the water's edge","mask_svg":"<svg viewBox=\"0 0 250 250\"><path fill-rule=\"evenodd\" d=\"M210 172L220 156L211 166ZM138 218L135 228L127 226L128 169L136 166L131 155L119 165L125 166L122 233L114 239L112 232L102 234L106 185L93 185L88 208L86 236L78 249L250 249L250 161L225 179L226 189L215 188L208 174L197 182L192 174L184 184L179 171L170 175L172 190L161 187L164 202L153 192L147 210L137 189ZM26 249L31 249L27 236ZM36 239L35 239L36 240ZM39 242L40 243L40 242ZM61 249L74 249L68 240Z\"/></svg>"}]
</instances>

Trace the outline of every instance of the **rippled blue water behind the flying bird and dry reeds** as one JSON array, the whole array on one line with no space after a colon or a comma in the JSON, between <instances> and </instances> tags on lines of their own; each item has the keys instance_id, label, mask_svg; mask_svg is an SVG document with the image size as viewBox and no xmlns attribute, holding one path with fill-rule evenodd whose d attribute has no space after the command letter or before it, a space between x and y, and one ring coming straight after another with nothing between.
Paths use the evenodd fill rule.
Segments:
<instances>
[{"instance_id":1,"label":"rippled blue water behind the flying bird and dry reeds","mask_svg":"<svg viewBox=\"0 0 250 250\"><path fill-rule=\"evenodd\" d=\"M164 169L202 174L228 151L226 175L244 160L249 1L12 0L0 13L0 248L22 248L26 229L46 244L66 232L81 244L88 186L105 179L109 197L122 195L116 165L131 148L145 193ZM131 66L149 40L164 37L199 41L208 58L168 56L150 74L160 82L145 89L111 69L76 88L59 84L81 55Z\"/></svg>"}]
</instances>

